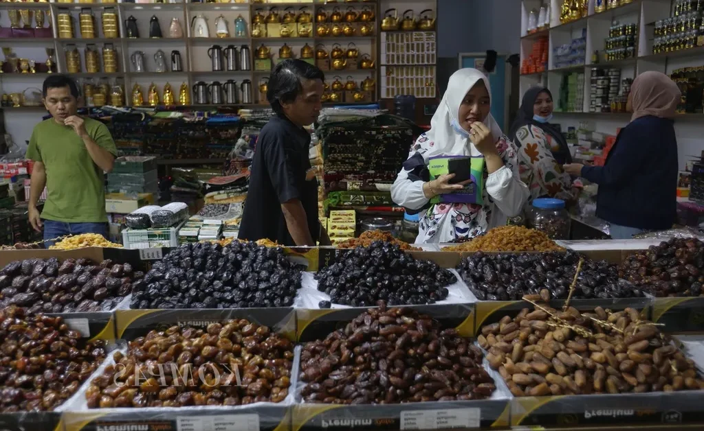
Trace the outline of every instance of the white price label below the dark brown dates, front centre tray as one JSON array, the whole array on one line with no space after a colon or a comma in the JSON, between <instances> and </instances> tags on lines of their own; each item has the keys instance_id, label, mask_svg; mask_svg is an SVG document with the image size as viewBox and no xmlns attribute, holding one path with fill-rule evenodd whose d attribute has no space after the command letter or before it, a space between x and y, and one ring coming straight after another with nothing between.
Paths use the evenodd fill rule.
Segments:
<instances>
[{"instance_id":1,"label":"white price label below the dark brown dates, front centre tray","mask_svg":"<svg viewBox=\"0 0 704 431\"><path fill-rule=\"evenodd\" d=\"M407 410L401 412L401 430L478 428L481 409Z\"/></svg>"}]
</instances>

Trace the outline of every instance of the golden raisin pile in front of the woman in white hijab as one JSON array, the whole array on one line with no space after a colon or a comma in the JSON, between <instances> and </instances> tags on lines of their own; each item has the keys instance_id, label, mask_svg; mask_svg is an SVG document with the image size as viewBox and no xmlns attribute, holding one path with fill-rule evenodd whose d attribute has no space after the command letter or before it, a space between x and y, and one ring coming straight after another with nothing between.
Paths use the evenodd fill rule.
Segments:
<instances>
[{"instance_id":1,"label":"golden raisin pile in front of the woman in white hijab","mask_svg":"<svg viewBox=\"0 0 704 431\"><path fill-rule=\"evenodd\" d=\"M565 250L548 236L523 226L499 226L467 243L444 247L447 252L553 252Z\"/></svg>"}]
</instances>

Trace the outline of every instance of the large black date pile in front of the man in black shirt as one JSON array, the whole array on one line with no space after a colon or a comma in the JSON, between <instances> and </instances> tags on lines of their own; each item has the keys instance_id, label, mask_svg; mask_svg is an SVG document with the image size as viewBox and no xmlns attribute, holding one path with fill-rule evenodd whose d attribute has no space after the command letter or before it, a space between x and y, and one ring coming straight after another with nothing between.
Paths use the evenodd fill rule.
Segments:
<instances>
[{"instance_id":1,"label":"large black date pile in front of the man in black shirt","mask_svg":"<svg viewBox=\"0 0 704 431\"><path fill-rule=\"evenodd\" d=\"M233 241L184 244L171 250L132 292L132 309L289 307L301 268L281 247Z\"/></svg>"}]
</instances>

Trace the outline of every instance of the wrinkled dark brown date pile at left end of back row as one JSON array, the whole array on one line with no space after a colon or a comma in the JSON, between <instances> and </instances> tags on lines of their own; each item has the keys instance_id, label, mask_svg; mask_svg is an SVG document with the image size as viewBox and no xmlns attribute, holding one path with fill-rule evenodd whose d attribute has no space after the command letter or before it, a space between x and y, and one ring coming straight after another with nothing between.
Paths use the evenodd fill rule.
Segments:
<instances>
[{"instance_id":1,"label":"wrinkled dark brown date pile at left end of back row","mask_svg":"<svg viewBox=\"0 0 704 431\"><path fill-rule=\"evenodd\" d=\"M26 259L0 269L0 307L34 314L110 311L130 295L144 274L110 259Z\"/></svg>"}]
</instances>

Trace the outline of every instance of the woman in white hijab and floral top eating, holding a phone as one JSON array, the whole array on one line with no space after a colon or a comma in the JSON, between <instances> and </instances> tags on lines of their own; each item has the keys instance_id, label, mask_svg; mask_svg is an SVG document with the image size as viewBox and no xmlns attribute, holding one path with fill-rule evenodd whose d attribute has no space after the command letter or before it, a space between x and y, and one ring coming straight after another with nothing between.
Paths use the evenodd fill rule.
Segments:
<instances>
[{"instance_id":1,"label":"woman in white hijab and floral top eating, holding a phone","mask_svg":"<svg viewBox=\"0 0 704 431\"><path fill-rule=\"evenodd\" d=\"M415 141L391 187L396 204L422 212L417 243L474 238L520 214L528 188L520 180L516 148L490 108L482 72L460 69L450 77L430 130ZM457 184L455 174L432 175L429 163L448 156L471 157L465 160L472 160L476 175Z\"/></svg>"}]
</instances>

